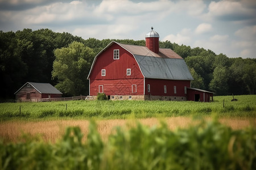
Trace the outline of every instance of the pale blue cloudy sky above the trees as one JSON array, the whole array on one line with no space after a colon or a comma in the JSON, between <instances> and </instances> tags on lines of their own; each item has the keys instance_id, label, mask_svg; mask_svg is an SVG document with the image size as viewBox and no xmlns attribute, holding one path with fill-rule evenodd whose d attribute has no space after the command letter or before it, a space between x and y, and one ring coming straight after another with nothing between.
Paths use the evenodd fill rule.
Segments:
<instances>
[{"instance_id":1,"label":"pale blue cloudy sky above the trees","mask_svg":"<svg viewBox=\"0 0 256 170\"><path fill-rule=\"evenodd\" d=\"M256 58L256 0L0 0L0 30L48 28L83 39L160 41Z\"/></svg>"}]
</instances>

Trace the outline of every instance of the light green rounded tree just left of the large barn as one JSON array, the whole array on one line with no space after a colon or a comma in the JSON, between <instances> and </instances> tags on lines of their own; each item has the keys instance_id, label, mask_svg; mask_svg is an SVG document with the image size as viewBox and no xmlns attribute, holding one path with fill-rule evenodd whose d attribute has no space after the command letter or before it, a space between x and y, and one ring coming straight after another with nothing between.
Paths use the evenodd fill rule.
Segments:
<instances>
[{"instance_id":1,"label":"light green rounded tree just left of the large barn","mask_svg":"<svg viewBox=\"0 0 256 170\"><path fill-rule=\"evenodd\" d=\"M56 88L64 94L87 95L89 83L86 79L93 58L93 49L81 42L72 42L67 48L56 49L52 78L57 78Z\"/></svg>"}]
</instances>

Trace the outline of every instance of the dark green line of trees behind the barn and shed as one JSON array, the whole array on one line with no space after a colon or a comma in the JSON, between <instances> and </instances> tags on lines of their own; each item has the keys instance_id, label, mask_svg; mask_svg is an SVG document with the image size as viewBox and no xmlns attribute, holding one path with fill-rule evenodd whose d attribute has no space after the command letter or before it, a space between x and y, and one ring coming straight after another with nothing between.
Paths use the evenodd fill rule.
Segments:
<instances>
[{"instance_id":1,"label":"dark green line of trees behind the barn and shed","mask_svg":"<svg viewBox=\"0 0 256 170\"><path fill-rule=\"evenodd\" d=\"M111 41L145 46L144 40L97 40L50 29L0 31L0 99L14 99L26 82L51 83L64 96L88 95L86 79L97 53ZM255 94L256 59L228 58L212 50L160 41L184 58L195 80L191 87L215 95Z\"/></svg>"}]
</instances>

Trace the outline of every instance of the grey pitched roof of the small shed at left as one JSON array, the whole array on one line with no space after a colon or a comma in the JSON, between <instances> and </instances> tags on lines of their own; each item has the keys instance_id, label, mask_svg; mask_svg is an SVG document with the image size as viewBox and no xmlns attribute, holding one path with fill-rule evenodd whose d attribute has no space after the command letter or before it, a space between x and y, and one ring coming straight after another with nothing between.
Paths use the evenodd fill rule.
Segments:
<instances>
[{"instance_id":1,"label":"grey pitched roof of the small shed at left","mask_svg":"<svg viewBox=\"0 0 256 170\"><path fill-rule=\"evenodd\" d=\"M49 83L34 83L34 82L27 82L25 83L22 87L19 88L18 91L20 91L20 89L22 89L24 86L26 86L27 84L30 84L32 87L35 88L35 90L37 90L40 94L62 94L59 90L57 90L57 88L53 87L51 84ZM18 92L16 91L15 94Z\"/></svg>"}]
</instances>

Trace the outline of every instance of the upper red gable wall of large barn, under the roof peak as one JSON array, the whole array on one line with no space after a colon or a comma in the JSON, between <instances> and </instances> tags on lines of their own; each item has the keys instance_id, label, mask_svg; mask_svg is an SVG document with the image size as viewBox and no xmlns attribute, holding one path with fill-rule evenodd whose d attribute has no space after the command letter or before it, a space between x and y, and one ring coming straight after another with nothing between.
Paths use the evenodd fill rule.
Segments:
<instances>
[{"instance_id":1,"label":"upper red gable wall of large barn, under the roof peak","mask_svg":"<svg viewBox=\"0 0 256 170\"><path fill-rule=\"evenodd\" d=\"M113 58L114 49L119 49L119 59ZM101 69L106 70L106 76L101 76ZM131 75L126 75L127 69L131 69ZM132 54L115 43L97 57L90 75L91 80L137 78L143 78L137 61Z\"/></svg>"}]
</instances>

